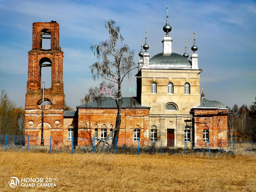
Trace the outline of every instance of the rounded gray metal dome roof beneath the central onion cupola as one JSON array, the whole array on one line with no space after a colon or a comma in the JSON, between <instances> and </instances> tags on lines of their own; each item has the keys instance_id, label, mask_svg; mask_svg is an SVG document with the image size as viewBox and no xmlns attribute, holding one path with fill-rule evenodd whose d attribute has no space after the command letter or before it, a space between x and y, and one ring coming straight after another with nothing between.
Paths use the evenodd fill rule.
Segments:
<instances>
[{"instance_id":1,"label":"rounded gray metal dome roof beneath the central onion cupola","mask_svg":"<svg viewBox=\"0 0 256 192\"><path fill-rule=\"evenodd\" d=\"M150 66L191 68L191 61L176 53L159 53L150 59Z\"/></svg>"}]
</instances>

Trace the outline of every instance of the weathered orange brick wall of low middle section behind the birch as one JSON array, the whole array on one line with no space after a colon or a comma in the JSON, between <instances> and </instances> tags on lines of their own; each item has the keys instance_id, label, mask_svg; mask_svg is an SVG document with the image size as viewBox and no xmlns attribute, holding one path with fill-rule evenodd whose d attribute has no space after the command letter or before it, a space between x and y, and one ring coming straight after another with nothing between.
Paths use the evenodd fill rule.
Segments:
<instances>
[{"instance_id":1,"label":"weathered orange brick wall of low middle section behind the birch","mask_svg":"<svg viewBox=\"0 0 256 192\"><path fill-rule=\"evenodd\" d=\"M117 109L114 108L78 108L78 145L83 139L86 144L93 144L95 128L98 128L98 138L101 137L102 127L115 128ZM148 146L148 109L122 109L122 121L119 132L118 145L137 146L134 140L134 129L140 130L140 146ZM106 126L106 127L105 127ZM97 143L97 142L96 142Z\"/></svg>"}]
</instances>

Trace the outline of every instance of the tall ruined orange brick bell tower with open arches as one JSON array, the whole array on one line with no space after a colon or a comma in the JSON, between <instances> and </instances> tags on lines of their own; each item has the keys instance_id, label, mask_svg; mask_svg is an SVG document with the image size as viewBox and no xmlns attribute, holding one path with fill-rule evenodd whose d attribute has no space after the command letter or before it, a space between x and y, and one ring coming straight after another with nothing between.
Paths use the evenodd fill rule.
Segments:
<instances>
[{"instance_id":1,"label":"tall ruined orange brick bell tower with open arches","mask_svg":"<svg viewBox=\"0 0 256 192\"><path fill-rule=\"evenodd\" d=\"M49 48L42 44L50 39ZM42 130L42 67L51 67L51 87L44 90L44 145L63 142L63 52L59 46L59 24L56 21L34 22L32 50L28 52L25 136L29 144L41 144ZM26 139L26 144L28 140Z\"/></svg>"}]
</instances>

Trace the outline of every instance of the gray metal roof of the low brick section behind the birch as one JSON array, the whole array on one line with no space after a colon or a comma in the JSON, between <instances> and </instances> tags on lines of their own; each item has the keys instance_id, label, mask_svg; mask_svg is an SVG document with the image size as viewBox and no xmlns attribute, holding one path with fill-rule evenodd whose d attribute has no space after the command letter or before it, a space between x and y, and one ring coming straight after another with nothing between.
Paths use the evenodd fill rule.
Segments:
<instances>
[{"instance_id":1,"label":"gray metal roof of the low brick section behind the birch","mask_svg":"<svg viewBox=\"0 0 256 192\"><path fill-rule=\"evenodd\" d=\"M123 97L123 102L126 104L122 104L122 108L150 108L148 106L142 106L138 103L138 101L133 97ZM107 100L97 102L94 100L93 102L77 106L76 108L116 108L116 102L112 98L107 98Z\"/></svg>"}]
</instances>

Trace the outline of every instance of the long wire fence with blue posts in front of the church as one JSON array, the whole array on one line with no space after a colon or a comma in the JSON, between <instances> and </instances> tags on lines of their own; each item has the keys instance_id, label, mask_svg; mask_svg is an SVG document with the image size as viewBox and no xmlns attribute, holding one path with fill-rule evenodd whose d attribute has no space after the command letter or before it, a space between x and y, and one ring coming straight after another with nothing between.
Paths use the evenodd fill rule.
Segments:
<instances>
[{"instance_id":1,"label":"long wire fence with blue posts in front of the church","mask_svg":"<svg viewBox=\"0 0 256 192\"><path fill-rule=\"evenodd\" d=\"M40 139L25 137L23 135L0 135L0 150L20 150L23 152L68 152L68 153L110 153L110 154L180 154L180 155L198 155L214 156L216 154L235 156L236 154L256 154L255 141L229 141L226 147L209 148L209 142L204 147L191 147L184 141L182 147L162 146L162 139L155 143L149 142L148 146L143 146L140 140L130 145L118 145L116 139L107 141L102 146L103 140L94 140L91 142L81 138L72 137L69 140L63 140L57 137L44 137L44 146L40 146ZM100 143L99 143L100 142ZM112 143L114 142L114 143ZM160 144L159 144L160 143Z\"/></svg>"}]
</instances>

